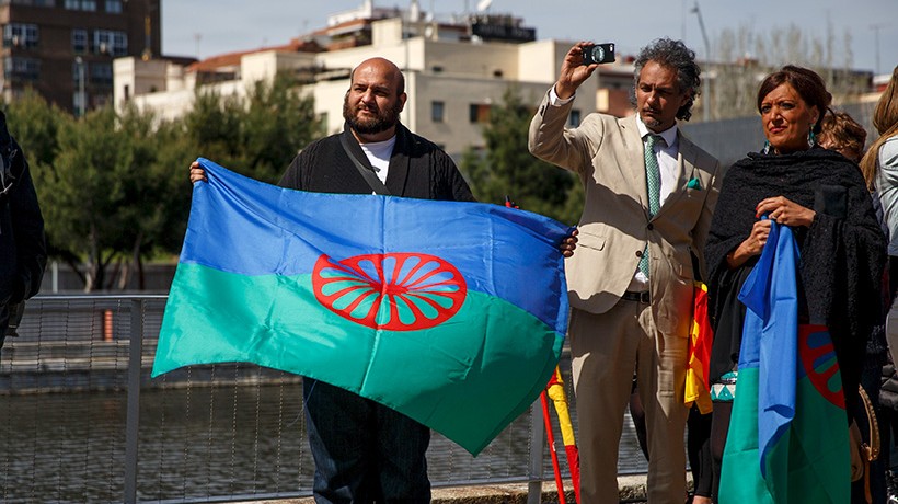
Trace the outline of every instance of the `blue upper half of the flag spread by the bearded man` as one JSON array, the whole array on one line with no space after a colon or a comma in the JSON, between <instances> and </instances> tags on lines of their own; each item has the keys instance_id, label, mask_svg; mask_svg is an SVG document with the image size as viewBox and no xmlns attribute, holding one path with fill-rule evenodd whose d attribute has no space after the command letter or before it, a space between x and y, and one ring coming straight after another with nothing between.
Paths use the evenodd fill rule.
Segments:
<instances>
[{"instance_id":1,"label":"blue upper half of the flag spread by the bearded man","mask_svg":"<svg viewBox=\"0 0 898 504\"><path fill-rule=\"evenodd\" d=\"M194 184L182 263L240 275L292 276L312 273L322 255L341 261L430 254L454 265L469 289L503 298L565 332L567 297L548 306L530 293L567 290L559 245L572 232L569 226L491 204L287 190L198 161L216 190Z\"/></svg>"}]
</instances>

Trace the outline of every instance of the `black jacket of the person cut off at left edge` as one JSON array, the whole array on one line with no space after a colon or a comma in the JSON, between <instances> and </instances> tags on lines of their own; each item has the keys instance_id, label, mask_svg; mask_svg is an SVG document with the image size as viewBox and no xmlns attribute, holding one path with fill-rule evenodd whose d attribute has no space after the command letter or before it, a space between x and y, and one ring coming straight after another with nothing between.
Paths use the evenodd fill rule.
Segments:
<instances>
[{"instance_id":1,"label":"black jacket of the person cut off at left edge","mask_svg":"<svg viewBox=\"0 0 898 504\"><path fill-rule=\"evenodd\" d=\"M7 129L0 112L0 345L10 308L37 294L47 247L44 218L25 154Z\"/></svg>"}]
</instances>

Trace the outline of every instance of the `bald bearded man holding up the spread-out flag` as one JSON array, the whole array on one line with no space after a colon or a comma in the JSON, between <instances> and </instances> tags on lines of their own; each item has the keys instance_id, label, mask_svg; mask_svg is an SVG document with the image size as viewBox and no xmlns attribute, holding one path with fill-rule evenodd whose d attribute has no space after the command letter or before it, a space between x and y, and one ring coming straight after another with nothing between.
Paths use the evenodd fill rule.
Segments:
<instances>
[{"instance_id":1,"label":"bald bearded man holding up the spread-out flag","mask_svg":"<svg viewBox=\"0 0 898 504\"><path fill-rule=\"evenodd\" d=\"M362 61L353 70L344 99L343 133L310 144L279 185L318 193L473 202L452 159L400 124L406 99L405 79L394 64L383 58ZM199 164L192 164L191 181L205 180ZM428 427L323 381L302 381L316 503L430 502Z\"/></svg>"}]
</instances>

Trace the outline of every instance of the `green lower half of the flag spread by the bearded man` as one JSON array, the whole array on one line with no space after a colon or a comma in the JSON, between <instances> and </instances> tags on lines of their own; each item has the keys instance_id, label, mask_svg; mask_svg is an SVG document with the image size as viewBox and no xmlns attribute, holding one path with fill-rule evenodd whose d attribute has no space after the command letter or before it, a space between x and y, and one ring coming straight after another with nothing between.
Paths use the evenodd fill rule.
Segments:
<instances>
[{"instance_id":1,"label":"green lower half of the flag spread by the bearded man","mask_svg":"<svg viewBox=\"0 0 898 504\"><path fill-rule=\"evenodd\" d=\"M324 307L311 275L180 264L153 376L227 362L281 369L381 402L476 454L538 397L562 344L529 312L483 293L468 290L438 325L384 331Z\"/></svg>"}]
</instances>

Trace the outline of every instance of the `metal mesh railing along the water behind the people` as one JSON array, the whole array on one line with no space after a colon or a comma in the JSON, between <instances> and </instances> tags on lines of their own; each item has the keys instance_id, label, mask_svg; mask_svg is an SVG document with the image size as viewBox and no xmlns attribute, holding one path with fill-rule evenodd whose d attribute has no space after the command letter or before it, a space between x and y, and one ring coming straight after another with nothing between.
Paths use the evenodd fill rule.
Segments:
<instances>
[{"instance_id":1,"label":"metal mesh railing along the water behind the people","mask_svg":"<svg viewBox=\"0 0 898 504\"><path fill-rule=\"evenodd\" d=\"M20 336L7 339L0 358L0 501L311 494L301 379L246 364L150 378L164 302L164 296L28 302ZM568 397L573 402L569 390ZM427 457L434 485L540 489L553 474L542 422L541 409L531 408L476 458L435 433ZM642 460L626 467L634 458L628 454L637 450L628 437L622 471L642 472ZM538 491L530 496L539 502Z\"/></svg>"}]
</instances>

